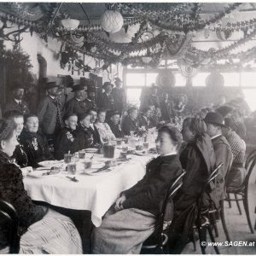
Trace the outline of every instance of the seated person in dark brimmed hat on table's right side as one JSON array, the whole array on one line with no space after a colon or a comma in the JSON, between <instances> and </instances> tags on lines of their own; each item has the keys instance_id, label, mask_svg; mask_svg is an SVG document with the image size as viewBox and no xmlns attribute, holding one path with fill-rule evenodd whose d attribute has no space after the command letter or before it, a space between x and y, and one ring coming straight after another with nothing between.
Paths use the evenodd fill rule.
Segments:
<instances>
[{"instance_id":1,"label":"seated person in dark brimmed hat on table's right side","mask_svg":"<svg viewBox=\"0 0 256 256\"><path fill-rule=\"evenodd\" d=\"M219 113L209 112L204 120L207 124L207 133L211 137L216 155L216 166L221 163L224 164L218 171L216 188L213 189L211 193L212 200L215 202L215 205L219 207L219 201L224 199L224 181L230 169L233 156L230 144L222 135L222 128L225 127L223 116Z\"/></svg>"}]
</instances>

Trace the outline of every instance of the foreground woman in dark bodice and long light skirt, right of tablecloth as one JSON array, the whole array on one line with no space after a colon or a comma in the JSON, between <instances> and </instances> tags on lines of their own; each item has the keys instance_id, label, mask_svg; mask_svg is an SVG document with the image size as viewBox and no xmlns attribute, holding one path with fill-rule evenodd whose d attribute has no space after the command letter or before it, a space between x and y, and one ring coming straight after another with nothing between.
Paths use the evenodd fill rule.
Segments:
<instances>
[{"instance_id":1,"label":"foreground woman in dark bodice and long light skirt, right of tablecloth","mask_svg":"<svg viewBox=\"0 0 256 256\"><path fill-rule=\"evenodd\" d=\"M121 193L94 230L92 253L140 253L143 241L154 232L167 189L183 172L177 155L181 141L174 126L160 128L156 142L160 156L148 163L141 181Z\"/></svg>"}]
</instances>

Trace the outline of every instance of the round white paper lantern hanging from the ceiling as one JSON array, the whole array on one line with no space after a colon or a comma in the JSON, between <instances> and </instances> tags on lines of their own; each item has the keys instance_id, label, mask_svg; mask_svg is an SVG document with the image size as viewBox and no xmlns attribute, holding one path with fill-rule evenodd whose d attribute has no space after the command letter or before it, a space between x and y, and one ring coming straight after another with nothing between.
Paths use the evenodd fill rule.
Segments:
<instances>
[{"instance_id":1,"label":"round white paper lantern hanging from the ceiling","mask_svg":"<svg viewBox=\"0 0 256 256\"><path fill-rule=\"evenodd\" d=\"M106 10L102 15L101 25L106 32L119 32L123 24L123 16L118 11Z\"/></svg>"}]
</instances>

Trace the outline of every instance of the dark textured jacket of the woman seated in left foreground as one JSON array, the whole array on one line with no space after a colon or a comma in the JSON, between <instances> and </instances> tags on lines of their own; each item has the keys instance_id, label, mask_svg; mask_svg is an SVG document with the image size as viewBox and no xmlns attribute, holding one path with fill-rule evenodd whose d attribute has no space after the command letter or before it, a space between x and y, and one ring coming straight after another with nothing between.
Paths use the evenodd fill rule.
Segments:
<instances>
[{"instance_id":1,"label":"dark textured jacket of the woman seated in left foreground","mask_svg":"<svg viewBox=\"0 0 256 256\"><path fill-rule=\"evenodd\" d=\"M9 156L0 151L0 198L15 207L19 218L19 233L22 235L33 223L44 217L44 210L32 203L22 182L18 166L10 163ZM7 227L9 228L9 227ZM5 230L0 226L0 247L5 245Z\"/></svg>"}]
</instances>

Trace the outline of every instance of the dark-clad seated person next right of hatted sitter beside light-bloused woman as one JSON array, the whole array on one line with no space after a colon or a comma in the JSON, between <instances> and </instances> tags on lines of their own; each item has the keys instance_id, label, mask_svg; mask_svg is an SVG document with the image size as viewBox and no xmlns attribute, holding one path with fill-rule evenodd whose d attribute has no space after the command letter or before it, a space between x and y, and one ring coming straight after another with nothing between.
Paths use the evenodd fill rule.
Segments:
<instances>
[{"instance_id":1,"label":"dark-clad seated person next right of hatted sitter beside light-bloused woman","mask_svg":"<svg viewBox=\"0 0 256 256\"><path fill-rule=\"evenodd\" d=\"M137 133L139 131L139 122L137 120L137 108L129 108L128 115L126 115L122 122L122 131L126 136L131 136L131 131Z\"/></svg>"}]
</instances>

